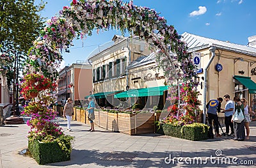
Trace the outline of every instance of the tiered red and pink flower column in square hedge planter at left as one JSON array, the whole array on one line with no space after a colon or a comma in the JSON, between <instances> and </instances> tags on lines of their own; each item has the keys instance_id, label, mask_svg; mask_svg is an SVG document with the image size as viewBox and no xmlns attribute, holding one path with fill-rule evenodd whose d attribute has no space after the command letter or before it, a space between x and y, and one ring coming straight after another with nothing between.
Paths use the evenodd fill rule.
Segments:
<instances>
[{"instance_id":1,"label":"tiered red and pink flower column in square hedge planter at left","mask_svg":"<svg viewBox=\"0 0 256 168\"><path fill-rule=\"evenodd\" d=\"M47 108L52 103L49 91L54 89L54 82L43 75L30 73L24 76L21 86L25 98L31 96L31 93L40 93L22 112L31 116L27 121L27 125L31 127L28 134L28 149L33 158L38 164L70 160L74 137L63 134L60 125L52 122L57 112Z\"/></svg>"}]
</instances>

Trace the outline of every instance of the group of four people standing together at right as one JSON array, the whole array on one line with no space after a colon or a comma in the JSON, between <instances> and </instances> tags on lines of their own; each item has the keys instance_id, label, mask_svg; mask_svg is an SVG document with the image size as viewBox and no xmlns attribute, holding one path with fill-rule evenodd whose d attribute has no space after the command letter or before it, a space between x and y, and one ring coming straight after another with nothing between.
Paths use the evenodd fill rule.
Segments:
<instances>
[{"instance_id":1,"label":"group of four people standing together at right","mask_svg":"<svg viewBox=\"0 0 256 168\"><path fill-rule=\"evenodd\" d=\"M244 139L250 139L250 116L254 115L255 112L252 111L252 107L248 105L246 98L239 98L235 96L233 100L230 100L229 95L224 96L226 101L225 109L221 109L221 103L223 98L217 98L216 100L210 100L207 105L207 114L209 122L209 138L213 138L212 132L212 120L214 121L214 130L216 132L216 137L221 136L234 136L234 141L244 141ZM218 113L225 113L225 127L226 132L220 134L219 126L220 122L218 121ZM237 115L241 116L241 121L234 119ZM229 134L230 128L230 134ZM222 128L221 128L222 130ZM246 136L245 136L246 130ZM223 131L223 130L222 130Z\"/></svg>"}]
</instances>

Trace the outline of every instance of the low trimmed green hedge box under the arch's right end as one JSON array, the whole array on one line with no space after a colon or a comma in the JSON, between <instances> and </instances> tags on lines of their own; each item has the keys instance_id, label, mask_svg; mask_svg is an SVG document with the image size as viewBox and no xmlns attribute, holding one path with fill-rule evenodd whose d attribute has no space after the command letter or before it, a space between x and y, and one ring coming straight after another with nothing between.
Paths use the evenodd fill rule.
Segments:
<instances>
[{"instance_id":1,"label":"low trimmed green hedge box under the arch's right end","mask_svg":"<svg viewBox=\"0 0 256 168\"><path fill-rule=\"evenodd\" d=\"M188 139L190 141L201 141L207 139L209 126L202 123L193 123L191 125L172 125L165 123L163 125L164 135Z\"/></svg>"}]
</instances>

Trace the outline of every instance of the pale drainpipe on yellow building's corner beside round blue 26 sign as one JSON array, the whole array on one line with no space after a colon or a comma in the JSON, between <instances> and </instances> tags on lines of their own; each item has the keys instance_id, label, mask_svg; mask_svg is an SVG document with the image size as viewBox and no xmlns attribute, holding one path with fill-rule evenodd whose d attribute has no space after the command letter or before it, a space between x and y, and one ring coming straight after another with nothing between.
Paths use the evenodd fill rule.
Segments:
<instances>
[{"instance_id":1,"label":"pale drainpipe on yellow building's corner beside round blue 26 sign","mask_svg":"<svg viewBox=\"0 0 256 168\"><path fill-rule=\"evenodd\" d=\"M205 123L205 119L206 119L206 94L207 94L207 70L209 68L209 66L211 65L214 57L215 57L215 47L211 47L209 49L212 53L212 56L210 58L209 63L207 64L207 66L205 66L204 68L204 102L203 102L203 123Z\"/></svg>"}]
</instances>

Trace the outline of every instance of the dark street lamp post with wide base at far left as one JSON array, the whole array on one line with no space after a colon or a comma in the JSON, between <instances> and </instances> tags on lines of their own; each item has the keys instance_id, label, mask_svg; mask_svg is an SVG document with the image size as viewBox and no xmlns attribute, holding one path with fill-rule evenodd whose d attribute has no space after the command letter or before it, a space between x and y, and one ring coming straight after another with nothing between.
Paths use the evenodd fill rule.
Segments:
<instances>
[{"instance_id":1,"label":"dark street lamp post with wide base at far left","mask_svg":"<svg viewBox=\"0 0 256 168\"><path fill-rule=\"evenodd\" d=\"M19 79L19 67L18 67L18 57L17 57L17 53L15 52L15 50L13 49L9 49L6 52L10 52L12 51L14 53L15 56L15 60L14 60L14 68L13 68L13 115L10 116L9 118L6 118L4 123L6 125L8 124L22 124L24 123L22 118L19 118L19 88L18 88L18 79ZM17 73L17 74L16 74Z\"/></svg>"}]
</instances>

